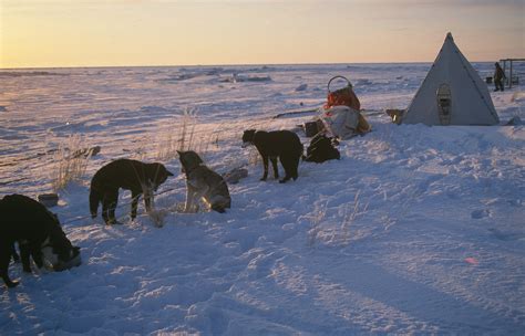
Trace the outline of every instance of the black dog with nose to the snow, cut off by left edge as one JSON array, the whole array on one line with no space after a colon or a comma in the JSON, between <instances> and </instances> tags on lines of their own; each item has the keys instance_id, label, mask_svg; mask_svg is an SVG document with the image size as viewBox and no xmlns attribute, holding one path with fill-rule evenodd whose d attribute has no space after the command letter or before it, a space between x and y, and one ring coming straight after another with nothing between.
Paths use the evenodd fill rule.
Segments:
<instances>
[{"instance_id":1,"label":"black dog with nose to the snow, cut off by left edge","mask_svg":"<svg viewBox=\"0 0 525 336\"><path fill-rule=\"evenodd\" d=\"M9 279L8 269L18 241L24 272L31 272L30 256L38 267L48 260L55 271L80 265L80 248L65 237L53 213L38 201L9 195L0 200L0 276L8 287L18 282Z\"/></svg>"}]
</instances>

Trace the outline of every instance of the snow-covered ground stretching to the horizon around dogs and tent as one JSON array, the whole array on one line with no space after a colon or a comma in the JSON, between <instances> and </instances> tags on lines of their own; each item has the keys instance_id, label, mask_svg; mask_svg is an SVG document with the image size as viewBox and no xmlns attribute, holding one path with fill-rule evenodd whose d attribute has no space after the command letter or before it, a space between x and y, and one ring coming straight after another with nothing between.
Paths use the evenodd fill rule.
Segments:
<instances>
[{"instance_id":1,"label":"snow-covered ground stretching to the horizon around dogs and tent","mask_svg":"<svg viewBox=\"0 0 525 336\"><path fill-rule=\"evenodd\" d=\"M482 77L493 70L474 66ZM0 197L50 192L52 153L69 136L101 146L52 208L83 264L34 274L11 264L21 284L0 290L0 334L523 334L524 126L390 123L383 111L405 108L429 69L0 71ZM341 141L339 161L302 162L297 181L259 181L243 130L310 120L333 75L354 84L373 132ZM492 94L502 125L525 118L522 87ZM173 157L164 164L177 174L155 199L163 227L142 203L131 221L128 192L124 225L91 220L94 171L119 157L158 160L185 111L196 113L194 146L209 167L248 169L229 186L231 209L179 212L185 182Z\"/></svg>"}]
</instances>

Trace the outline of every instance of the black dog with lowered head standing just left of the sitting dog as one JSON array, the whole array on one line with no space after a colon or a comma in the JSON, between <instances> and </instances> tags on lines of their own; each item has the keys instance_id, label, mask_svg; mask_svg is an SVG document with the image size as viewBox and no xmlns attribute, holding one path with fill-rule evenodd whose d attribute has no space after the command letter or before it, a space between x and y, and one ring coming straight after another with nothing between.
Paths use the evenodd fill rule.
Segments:
<instances>
[{"instance_id":1,"label":"black dog with lowered head standing just left of the sitting dog","mask_svg":"<svg viewBox=\"0 0 525 336\"><path fill-rule=\"evenodd\" d=\"M137 160L119 159L112 161L95 172L91 179L90 210L91 217L96 217L99 203L102 203L102 218L106 224L116 223L115 208L119 201L119 188L131 190L131 218L136 218L138 197L144 190L157 190L172 172L162 164L144 164ZM151 209L152 195L144 195L146 209Z\"/></svg>"}]
</instances>

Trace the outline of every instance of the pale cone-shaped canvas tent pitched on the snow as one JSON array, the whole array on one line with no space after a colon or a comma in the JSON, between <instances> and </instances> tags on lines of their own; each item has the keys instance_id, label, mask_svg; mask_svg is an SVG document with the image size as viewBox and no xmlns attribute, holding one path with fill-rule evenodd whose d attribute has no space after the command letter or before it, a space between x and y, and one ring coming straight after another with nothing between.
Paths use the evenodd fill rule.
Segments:
<instances>
[{"instance_id":1,"label":"pale cone-shaped canvas tent pitched on the snow","mask_svg":"<svg viewBox=\"0 0 525 336\"><path fill-rule=\"evenodd\" d=\"M454 43L445 42L404 113L403 124L495 125L500 123L486 84Z\"/></svg>"}]
</instances>

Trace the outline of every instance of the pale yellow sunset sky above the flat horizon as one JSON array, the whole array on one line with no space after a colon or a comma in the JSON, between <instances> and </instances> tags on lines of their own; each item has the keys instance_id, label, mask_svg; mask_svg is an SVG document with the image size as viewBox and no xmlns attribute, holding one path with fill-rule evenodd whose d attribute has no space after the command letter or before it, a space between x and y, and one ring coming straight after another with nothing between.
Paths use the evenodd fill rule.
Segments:
<instances>
[{"instance_id":1,"label":"pale yellow sunset sky above the flat horizon","mask_svg":"<svg viewBox=\"0 0 525 336\"><path fill-rule=\"evenodd\" d=\"M0 0L0 69L525 57L525 0Z\"/></svg>"}]
</instances>

